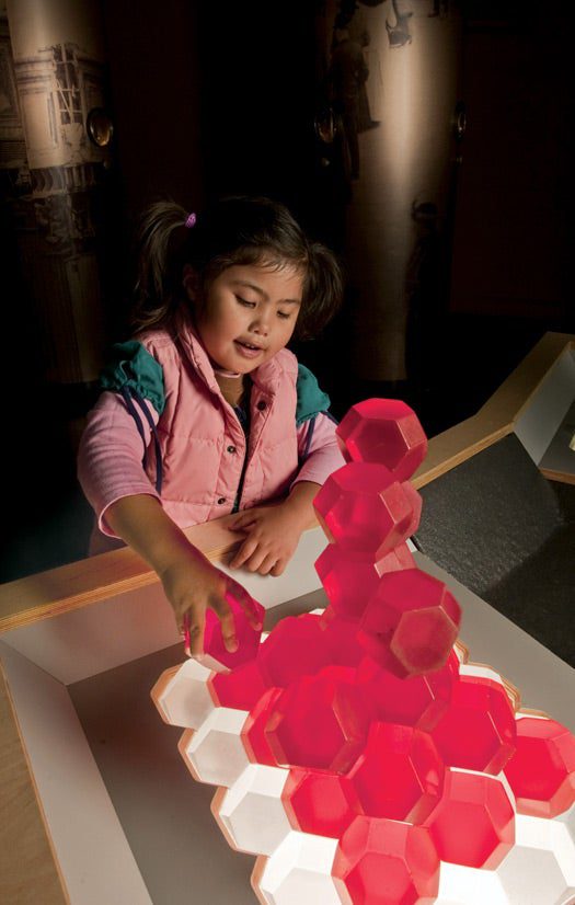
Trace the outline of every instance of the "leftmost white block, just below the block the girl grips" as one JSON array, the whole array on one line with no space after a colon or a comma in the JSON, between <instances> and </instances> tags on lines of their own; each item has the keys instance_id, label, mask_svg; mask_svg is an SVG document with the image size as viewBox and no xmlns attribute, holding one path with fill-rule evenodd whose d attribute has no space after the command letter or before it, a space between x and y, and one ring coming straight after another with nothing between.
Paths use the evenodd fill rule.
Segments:
<instances>
[{"instance_id":1,"label":"leftmost white block, just below the block the girl grips","mask_svg":"<svg viewBox=\"0 0 575 905\"><path fill-rule=\"evenodd\" d=\"M215 707L207 686L210 675L196 660L165 669L150 691L162 720L174 726L199 729Z\"/></svg>"}]
</instances>

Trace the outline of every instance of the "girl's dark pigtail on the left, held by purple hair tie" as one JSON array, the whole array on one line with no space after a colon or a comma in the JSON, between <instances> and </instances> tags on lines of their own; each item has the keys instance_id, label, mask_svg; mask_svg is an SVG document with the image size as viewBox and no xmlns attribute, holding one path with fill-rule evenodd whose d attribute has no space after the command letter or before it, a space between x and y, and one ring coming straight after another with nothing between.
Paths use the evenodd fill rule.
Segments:
<instances>
[{"instance_id":1,"label":"girl's dark pigtail on the left, held by purple hair tie","mask_svg":"<svg viewBox=\"0 0 575 905\"><path fill-rule=\"evenodd\" d=\"M182 267L189 230L188 213L175 202L150 205L136 233L133 323L137 331L163 327L182 297Z\"/></svg>"}]
</instances>

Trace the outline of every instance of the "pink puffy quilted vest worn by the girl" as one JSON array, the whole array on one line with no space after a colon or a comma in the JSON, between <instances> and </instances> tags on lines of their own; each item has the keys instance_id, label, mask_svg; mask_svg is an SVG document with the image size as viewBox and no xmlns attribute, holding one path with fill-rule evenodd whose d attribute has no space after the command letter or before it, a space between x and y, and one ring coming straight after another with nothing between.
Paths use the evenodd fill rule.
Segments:
<instances>
[{"instance_id":1,"label":"pink puffy quilted vest worn by the girl","mask_svg":"<svg viewBox=\"0 0 575 905\"><path fill-rule=\"evenodd\" d=\"M158 422L162 504L180 525L195 525L284 495L298 471L298 365L281 350L252 371L249 444L223 399L204 347L189 328L139 341L163 368L165 408ZM146 470L154 482L150 450Z\"/></svg>"}]
</instances>

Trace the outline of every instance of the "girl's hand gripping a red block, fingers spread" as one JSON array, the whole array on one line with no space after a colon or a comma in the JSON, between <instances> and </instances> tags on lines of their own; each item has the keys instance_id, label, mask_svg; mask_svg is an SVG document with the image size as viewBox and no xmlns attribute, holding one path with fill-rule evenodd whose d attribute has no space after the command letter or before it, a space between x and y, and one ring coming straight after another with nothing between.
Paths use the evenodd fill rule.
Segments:
<instances>
[{"instance_id":1,"label":"girl's hand gripping a red block, fingers spread","mask_svg":"<svg viewBox=\"0 0 575 905\"><path fill-rule=\"evenodd\" d=\"M204 629L206 608L214 610L221 623L221 634L226 650L238 650L238 638L233 612L226 599L232 594L241 605L252 628L262 627L255 612L252 597L229 575L220 572L195 548L186 554L174 558L160 573L163 589L174 610L177 625L186 639L186 653L199 656L204 651Z\"/></svg>"}]
</instances>

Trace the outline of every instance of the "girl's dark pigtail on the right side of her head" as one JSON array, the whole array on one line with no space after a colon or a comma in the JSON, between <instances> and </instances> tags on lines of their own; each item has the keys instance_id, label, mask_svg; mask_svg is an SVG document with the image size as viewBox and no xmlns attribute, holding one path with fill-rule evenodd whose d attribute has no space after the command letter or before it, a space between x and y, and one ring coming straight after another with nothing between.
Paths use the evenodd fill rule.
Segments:
<instances>
[{"instance_id":1,"label":"girl's dark pigtail on the right side of her head","mask_svg":"<svg viewBox=\"0 0 575 905\"><path fill-rule=\"evenodd\" d=\"M344 277L337 259L321 242L310 242L303 282L303 299L296 328L300 340L317 336L337 313L344 295Z\"/></svg>"}]
</instances>

